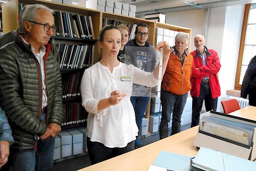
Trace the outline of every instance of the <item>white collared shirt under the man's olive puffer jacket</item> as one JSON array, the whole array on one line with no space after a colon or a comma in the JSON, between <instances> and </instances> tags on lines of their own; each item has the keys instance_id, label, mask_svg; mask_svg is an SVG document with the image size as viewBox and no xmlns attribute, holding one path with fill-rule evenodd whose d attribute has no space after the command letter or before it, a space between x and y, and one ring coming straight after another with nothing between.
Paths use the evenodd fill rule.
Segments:
<instances>
[{"instance_id":1,"label":"white collared shirt under the man's olive puffer jacket","mask_svg":"<svg viewBox=\"0 0 256 171\"><path fill-rule=\"evenodd\" d=\"M29 44L22 36L21 36L21 38L22 38L24 43ZM46 82L45 82L45 63L44 63L44 60L43 60L43 57L45 56L45 50L46 50L45 46L41 46L39 48L39 53L35 53L35 48L33 48L31 46L31 51L35 55L35 58L39 62L39 65L40 65L40 68L41 68L42 87L43 87L42 108L47 106L47 100L48 100L47 92L46 92Z\"/></svg>"}]
</instances>

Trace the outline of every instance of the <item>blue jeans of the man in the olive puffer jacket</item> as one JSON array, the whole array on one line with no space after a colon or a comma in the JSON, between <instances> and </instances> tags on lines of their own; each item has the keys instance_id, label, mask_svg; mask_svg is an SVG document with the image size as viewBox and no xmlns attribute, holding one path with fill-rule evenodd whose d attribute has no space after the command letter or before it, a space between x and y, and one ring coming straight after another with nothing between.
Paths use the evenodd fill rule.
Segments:
<instances>
[{"instance_id":1,"label":"blue jeans of the man in the olive puffer jacket","mask_svg":"<svg viewBox=\"0 0 256 171\"><path fill-rule=\"evenodd\" d=\"M45 121L45 114L41 113L40 119ZM13 158L14 171L50 171L53 167L55 138L37 140L37 152L31 150L12 149L10 154Z\"/></svg>"}]
</instances>

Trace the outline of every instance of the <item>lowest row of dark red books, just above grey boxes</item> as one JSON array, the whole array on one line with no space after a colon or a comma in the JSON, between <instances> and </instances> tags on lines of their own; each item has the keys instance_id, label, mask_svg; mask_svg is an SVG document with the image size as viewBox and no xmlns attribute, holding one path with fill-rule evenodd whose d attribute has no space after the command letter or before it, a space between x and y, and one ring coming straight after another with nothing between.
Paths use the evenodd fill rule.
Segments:
<instances>
[{"instance_id":1,"label":"lowest row of dark red books, just above grey boxes","mask_svg":"<svg viewBox=\"0 0 256 171\"><path fill-rule=\"evenodd\" d=\"M81 102L63 102L64 120L62 128L86 125L87 112Z\"/></svg>"}]
</instances>

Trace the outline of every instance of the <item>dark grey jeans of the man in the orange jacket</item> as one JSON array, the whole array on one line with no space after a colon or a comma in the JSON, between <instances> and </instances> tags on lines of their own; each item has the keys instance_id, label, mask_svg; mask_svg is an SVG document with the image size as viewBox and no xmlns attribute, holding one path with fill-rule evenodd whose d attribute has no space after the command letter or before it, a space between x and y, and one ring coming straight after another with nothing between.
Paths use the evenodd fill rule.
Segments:
<instances>
[{"instance_id":1,"label":"dark grey jeans of the man in the orange jacket","mask_svg":"<svg viewBox=\"0 0 256 171\"><path fill-rule=\"evenodd\" d=\"M168 137L168 122L173 112L171 135L180 132L181 115L187 100L187 93L176 95L161 90L162 118L159 126L160 140Z\"/></svg>"}]
</instances>

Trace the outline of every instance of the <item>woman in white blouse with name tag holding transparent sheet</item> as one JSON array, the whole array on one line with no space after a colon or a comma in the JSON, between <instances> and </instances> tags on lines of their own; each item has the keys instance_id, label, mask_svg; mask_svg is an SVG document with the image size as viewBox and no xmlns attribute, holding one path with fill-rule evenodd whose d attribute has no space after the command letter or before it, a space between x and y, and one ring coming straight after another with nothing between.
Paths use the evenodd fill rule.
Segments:
<instances>
[{"instance_id":1,"label":"woman in white blouse with name tag holding transparent sheet","mask_svg":"<svg viewBox=\"0 0 256 171\"><path fill-rule=\"evenodd\" d=\"M98 44L101 60L86 69L81 83L82 105L88 114L87 148L92 164L124 154L134 149L138 128L130 101L132 84L154 87L158 83L158 67L148 73L117 60L121 47L121 32L117 26L101 29ZM162 75L172 49L163 48Z\"/></svg>"}]
</instances>

